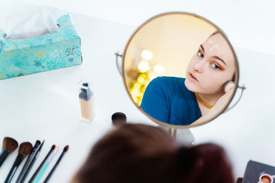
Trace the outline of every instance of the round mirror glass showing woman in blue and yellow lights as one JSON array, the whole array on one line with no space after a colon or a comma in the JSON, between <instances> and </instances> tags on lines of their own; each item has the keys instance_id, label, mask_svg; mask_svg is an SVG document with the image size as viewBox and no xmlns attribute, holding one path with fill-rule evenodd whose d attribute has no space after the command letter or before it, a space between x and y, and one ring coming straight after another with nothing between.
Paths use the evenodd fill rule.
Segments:
<instances>
[{"instance_id":1,"label":"round mirror glass showing woman in blue and yellow lights","mask_svg":"<svg viewBox=\"0 0 275 183\"><path fill-rule=\"evenodd\" d=\"M190 14L164 14L135 32L123 60L133 101L157 121L203 123L230 103L236 57L214 25Z\"/></svg>"}]
</instances>

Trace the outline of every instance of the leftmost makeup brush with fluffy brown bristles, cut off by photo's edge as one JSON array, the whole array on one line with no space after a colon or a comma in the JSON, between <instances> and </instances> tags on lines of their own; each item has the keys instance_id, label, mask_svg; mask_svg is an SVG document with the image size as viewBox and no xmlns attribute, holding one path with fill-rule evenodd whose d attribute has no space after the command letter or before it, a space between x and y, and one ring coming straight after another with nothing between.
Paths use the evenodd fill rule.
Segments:
<instances>
[{"instance_id":1,"label":"leftmost makeup brush with fluffy brown bristles, cut off by photo's edge","mask_svg":"<svg viewBox=\"0 0 275 183\"><path fill-rule=\"evenodd\" d=\"M18 143L13 138L6 136L3 139L3 147L0 154L0 167L5 161L5 158L7 158L12 151L17 149L17 147L18 147Z\"/></svg>"}]
</instances>

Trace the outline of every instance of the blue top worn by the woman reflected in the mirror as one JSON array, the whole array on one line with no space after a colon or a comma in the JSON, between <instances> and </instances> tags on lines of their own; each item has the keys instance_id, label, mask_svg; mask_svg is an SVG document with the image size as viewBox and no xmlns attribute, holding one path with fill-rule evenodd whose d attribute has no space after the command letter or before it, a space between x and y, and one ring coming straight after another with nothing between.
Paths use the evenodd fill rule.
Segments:
<instances>
[{"instance_id":1,"label":"blue top worn by the woman reflected in the mirror","mask_svg":"<svg viewBox=\"0 0 275 183\"><path fill-rule=\"evenodd\" d=\"M157 77L143 95L140 107L151 117L171 125L190 125L201 117L195 93L184 84L185 78Z\"/></svg>"}]
</instances>

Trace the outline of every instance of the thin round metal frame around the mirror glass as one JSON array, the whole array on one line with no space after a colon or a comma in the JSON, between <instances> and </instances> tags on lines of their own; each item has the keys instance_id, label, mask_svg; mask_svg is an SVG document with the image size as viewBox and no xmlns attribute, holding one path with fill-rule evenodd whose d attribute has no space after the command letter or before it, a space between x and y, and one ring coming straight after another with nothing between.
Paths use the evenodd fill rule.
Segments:
<instances>
[{"instance_id":1,"label":"thin round metal frame around the mirror glass","mask_svg":"<svg viewBox=\"0 0 275 183\"><path fill-rule=\"evenodd\" d=\"M125 58L125 53L129 47L129 44L131 42L131 40L133 39L133 37L137 34L137 32L140 31L140 29L142 29L142 27L144 27L147 23L150 23L151 21L161 17L161 16L166 16L166 15L169 15L169 14L184 14L184 15L189 15L189 16L194 16L198 19L201 19L203 21L206 21L207 23L210 23L210 25L212 25L213 27L215 27L217 29L217 31L219 31L223 37L225 38L225 40L228 42L228 45L230 46L230 48L232 49L232 52L233 52L233 55L234 55L234 59L235 59L235 66L236 66L236 71L235 71L235 86L233 88L233 95L230 97L230 100L225 104L225 106L220 110L219 113L217 113L217 115L214 115L212 118L206 120L206 121L203 121L199 124L195 124L195 125L170 125L168 123L164 123L162 121L159 121L153 117L151 117L149 114L147 114L147 112L145 112L144 110L142 110L142 108L140 108L140 106L137 106L137 103L135 103L135 101L133 101L133 98L131 96L131 93L129 91L129 88L127 88L126 86L126 80L125 80L125 73L124 73L124 58ZM228 40L228 37L225 35L225 33L217 26L215 25L214 23L212 23L211 21L209 21L208 19L202 17L202 16L199 16L197 14L193 14L193 13L188 13L188 12L164 12L162 14L157 14L153 17L151 17L150 19L148 19L147 21L145 21L144 23L142 23L142 25L140 25L139 27L137 27L137 29L135 29L135 32L132 34L132 36L129 38L129 40L127 41L126 43L126 46L124 48L124 51L123 51L123 54L122 54L122 64L121 64L121 71L122 71L122 80L123 80L123 84L124 84L124 88L126 89L126 92L127 94L129 95L131 101L134 103L134 105L143 113L146 115L146 117L148 117L149 119L151 119L152 121L154 121L155 123L157 123L158 125L162 125L164 127L169 127L169 128L174 128L174 129L186 129L186 128L190 128L190 127L197 127L197 126L200 126L200 125L205 125L206 123L209 123L210 121L216 119L217 117L219 117L220 114L223 114L223 112L225 112L225 110L228 108L229 104L231 103L232 99L234 98L235 94L236 94L236 89L238 88L238 84L239 84L239 62L236 58L236 53L231 45L231 42ZM195 121L194 121L195 122ZM193 122L193 123L194 123Z\"/></svg>"}]
</instances>

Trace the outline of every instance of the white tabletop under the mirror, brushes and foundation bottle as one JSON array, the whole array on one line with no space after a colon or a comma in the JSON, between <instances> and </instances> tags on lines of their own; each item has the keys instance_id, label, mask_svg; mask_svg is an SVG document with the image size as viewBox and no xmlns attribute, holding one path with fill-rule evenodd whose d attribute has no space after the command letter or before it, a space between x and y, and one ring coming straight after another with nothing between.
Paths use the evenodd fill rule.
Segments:
<instances>
[{"instance_id":1,"label":"white tabletop under the mirror, brushes and foundation bottle","mask_svg":"<svg viewBox=\"0 0 275 183\"><path fill-rule=\"evenodd\" d=\"M63 147L69 145L51 179L52 182L69 182L91 146L113 128L111 115L114 112L124 112L128 121L133 123L155 125L135 108L115 65L114 53L122 53L136 27L79 14L72 14L72 19L81 38L83 64L0 81L0 139L10 136L19 143L29 141L32 144L45 139L41 155L27 180L55 144L61 149L42 180L54 166ZM225 148L237 178L243 176L250 159L275 165L272 142L275 97L274 86L270 86L275 77L272 73L275 58L254 51L235 50L240 64L240 84L245 84L248 89L235 108L191 131L196 144L211 141ZM96 116L91 123L78 119L77 83L83 77L92 81L95 95ZM17 151L3 163L0 182L5 180L16 156ZM17 179L24 162L12 182Z\"/></svg>"}]
</instances>

